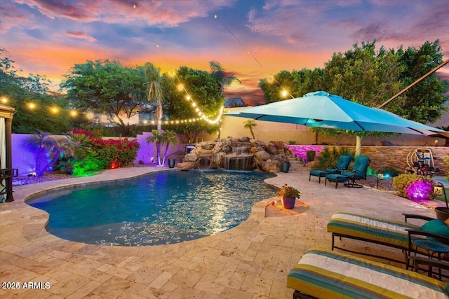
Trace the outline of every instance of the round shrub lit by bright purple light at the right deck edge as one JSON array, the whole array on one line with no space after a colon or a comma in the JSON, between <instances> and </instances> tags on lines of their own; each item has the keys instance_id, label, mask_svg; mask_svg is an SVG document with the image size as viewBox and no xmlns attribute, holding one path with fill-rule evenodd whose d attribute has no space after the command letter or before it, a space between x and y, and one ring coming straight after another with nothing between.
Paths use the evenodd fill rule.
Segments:
<instances>
[{"instance_id":1,"label":"round shrub lit by bright purple light at the right deck edge","mask_svg":"<svg viewBox=\"0 0 449 299\"><path fill-rule=\"evenodd\" d=\"M432 200L434 198L434 180L418 174L399 174L393 178L398 195L410 200Z\"/></svg>"}]
</instances>

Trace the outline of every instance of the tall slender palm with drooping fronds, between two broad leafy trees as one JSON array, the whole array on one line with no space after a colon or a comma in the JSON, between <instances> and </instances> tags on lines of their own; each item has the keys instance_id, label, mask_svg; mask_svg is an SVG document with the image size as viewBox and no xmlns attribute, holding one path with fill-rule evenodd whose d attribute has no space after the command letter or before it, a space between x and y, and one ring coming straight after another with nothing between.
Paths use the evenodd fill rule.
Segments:
<instances>
[{"instance_id":1,"label":"tall slender palm with drooping fronds, between two broad leafy trees","mask_svg":"<svg viewBox=\"0 0 449 299\"><path fill-rule=\"evenodd\" d=\"M147 99L156 104L157 130L161 132L161 120L163 116L162 103L164 100L164 90L162 86L163 76L161 68L154 67L154 64L147 62L145 64L145 76L147 77ZM160 157L158 157L160 160Z\"/></svg>"}]
</instances>

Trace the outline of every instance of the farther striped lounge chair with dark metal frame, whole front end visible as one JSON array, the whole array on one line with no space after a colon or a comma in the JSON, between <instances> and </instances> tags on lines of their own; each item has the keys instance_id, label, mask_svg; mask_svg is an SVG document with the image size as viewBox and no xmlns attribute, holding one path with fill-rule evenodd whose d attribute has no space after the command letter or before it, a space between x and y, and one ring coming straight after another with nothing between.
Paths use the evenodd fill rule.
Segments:
<instances>
[{"instance_id":1,"label":"farther striped lounge chair with dark metal frame, whole front end visible","mask_svg":"<svg viewBox=\"0 0 449 299\"><path fill-rule=\"evenodd\" d=\"M332 249L340 249L352 253L361 253L336 246L335 237L340 237L340 239L358 239L366 242L394 247L397 249L401 249L404 253L408 253L406 254L406 256L408 256L410 252L417 252L426 256L429 253L427 250L411 244L410 240L415 237L424 239L427 237L434 237L440 242L449 244L449 227L447 231L442 232L441 230L439 230L439 228L438 230L436 230L435 228L429 227L429 225L426 225L424 227L424 225L420 226L407 222L409 218L421 219L422 221L426 221L425 223L428 223L430 221L432 221L432 223L434 223L435 221L441 223L443 221L422 215L403 215L405 216L405 222L370 217L360 214L337 212L333 214L332 217L330 217L327 225L328 232L332 232ZM395 260L393 258L384 256L376 256L368 253L361 254L365 254L366 256L374 256L377 258L384 258L386 260L392 260L398 263L408 264L407 258L405 258L404 261Z\"/></svg>"}]
</instances>

